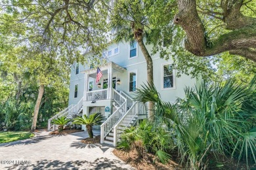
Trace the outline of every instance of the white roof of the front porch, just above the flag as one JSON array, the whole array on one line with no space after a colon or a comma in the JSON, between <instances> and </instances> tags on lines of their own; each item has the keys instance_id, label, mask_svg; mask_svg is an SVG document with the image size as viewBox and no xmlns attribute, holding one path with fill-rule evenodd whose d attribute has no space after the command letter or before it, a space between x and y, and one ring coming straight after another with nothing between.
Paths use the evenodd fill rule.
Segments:
<instances>
[{"instance_id":1,"label":"white roof of the front porch, just above the flag","mask_svg":"<svg viewBox=\"0 0 256 170\"><path fill-rule=\"evenodd\" d=\"M116 63L113 62L109 62L106 63L106 65L102 65L100 68L100 71L102 72L102 75L108 75L108 68L112 68L112 73L115 72L119 72L119 73L123 73L123 71L125 71L126 69L117 65ZM90 77L96 78L96 72L97 69L89 69L89 70L85 70L85 71L81 71L81 73L85 73L87 75L89 75Z\"/></svg>"}]
</instances>

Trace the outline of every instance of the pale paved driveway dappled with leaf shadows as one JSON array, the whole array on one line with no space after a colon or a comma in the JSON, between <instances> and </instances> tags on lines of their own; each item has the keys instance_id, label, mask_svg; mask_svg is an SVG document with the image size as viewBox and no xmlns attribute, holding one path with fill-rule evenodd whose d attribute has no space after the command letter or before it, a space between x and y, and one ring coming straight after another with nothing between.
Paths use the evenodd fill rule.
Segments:
<instances>
[{"instance_id":1,"label":"pale paved driveway dappled with leaf shadows","mask_svg":"<svg viewBox=\"0 0 256 170\"><path fill-rule=\"evenodd\" d=\"M41 131L32 139L0 144L0 169L132 169L112 154L110 145L80 143L86 137L85 131L69 135Z\"/></svg>"}]
</instances>

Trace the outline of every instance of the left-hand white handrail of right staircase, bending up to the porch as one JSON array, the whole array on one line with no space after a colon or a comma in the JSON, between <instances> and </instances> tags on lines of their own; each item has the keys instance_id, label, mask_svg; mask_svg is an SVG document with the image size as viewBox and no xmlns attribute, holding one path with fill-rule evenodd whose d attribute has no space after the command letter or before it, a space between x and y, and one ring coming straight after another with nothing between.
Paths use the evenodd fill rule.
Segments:
<instances>
[{"instance_id":1,"label":"left-hand white handrail of right staircase, bending up to the porch","mask_svg":"<svg viewBox=\"0 0 256 170\"><path fill-rule=\"evenodd\" d=\"M123 117L127 110L127 99L121 96L121 94L116 90L114 90L114 93L117 93L117 95L119 95L119 97L121 97L123 100L120 100L120 102L122 102L120 103L120 107L113 114L111 114L110 117L108 117L108 119L100 126L100 143L103 143L106 135L110 133L115 124L119 121L121 117Z\"/></svg>"}]
</instances>

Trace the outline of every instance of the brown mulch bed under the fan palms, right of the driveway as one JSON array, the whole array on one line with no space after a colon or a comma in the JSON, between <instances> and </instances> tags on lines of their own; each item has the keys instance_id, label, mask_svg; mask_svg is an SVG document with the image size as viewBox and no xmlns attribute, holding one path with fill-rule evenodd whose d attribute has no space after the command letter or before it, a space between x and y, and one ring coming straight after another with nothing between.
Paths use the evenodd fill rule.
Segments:
<instances>
[{"instance_id":1,"label":"brown mulch bed under the fan palms, right of the driveway","mask_svg":"<svg viewBox=\"0 0 256 170\"><path fill-rule=\"evenodd\" d=\"M121 160L125 161L126 163L129 163L136 169L182 169L182 167L178 163L172 160L170 160L169 163L166 164L157 161L156 156L154 156L153 154L148 154L148 159L139 159L135 150L131 150L131 152L127 153L115 149L113 150L113 154Z\"/></svg>"}]
</instances>

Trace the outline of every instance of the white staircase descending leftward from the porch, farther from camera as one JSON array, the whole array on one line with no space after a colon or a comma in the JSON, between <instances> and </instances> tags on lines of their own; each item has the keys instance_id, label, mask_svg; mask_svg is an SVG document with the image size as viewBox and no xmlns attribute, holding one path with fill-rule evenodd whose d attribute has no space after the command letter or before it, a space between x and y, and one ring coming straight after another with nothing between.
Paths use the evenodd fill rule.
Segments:
<instances>
[{"instance_id":1,"label":"white staircase descending leftward from the porch, farther from camera","mask_svg":"<svg viewBox=\"0 0 256 170\"><path fill-rule=\"evenodd\" d=\"M59 112L58 114L55 114L53 117L49 118L47 130L50 131L52 129L53 131L55 131L56 126L52 122L54 119L60 118L63 116L72 119L75 115L79 114L82 109L83 109L83 97L80 99L80 101L76 105L70 105L66 109Z\"/></svg>"}]
</instances>

